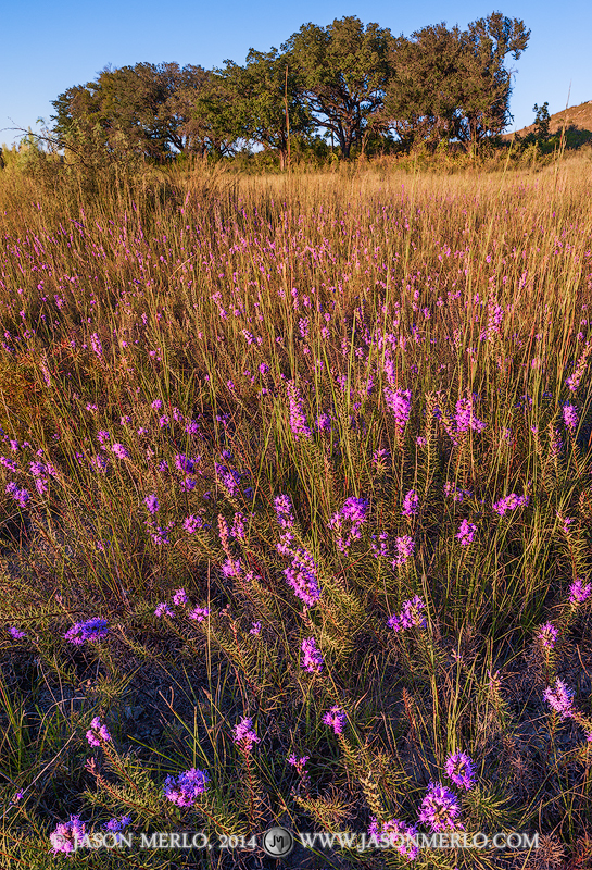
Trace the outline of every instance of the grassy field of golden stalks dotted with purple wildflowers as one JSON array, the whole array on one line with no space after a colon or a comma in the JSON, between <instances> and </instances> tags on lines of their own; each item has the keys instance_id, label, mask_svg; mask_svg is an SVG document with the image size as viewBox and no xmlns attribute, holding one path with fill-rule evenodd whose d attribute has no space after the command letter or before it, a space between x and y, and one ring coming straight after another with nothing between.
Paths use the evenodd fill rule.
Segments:
<instances>
[{"instance_id":1,"label":"grassy field of golden stalks dotted with purple wildflowers","mask_svg":"<svg viewBox=\"0 0 592 870\"><path fill-rule=\"evenodd\" d=\"M592 866L591 169L0 177L0 867Z\"/></svg>"}]
</instances>

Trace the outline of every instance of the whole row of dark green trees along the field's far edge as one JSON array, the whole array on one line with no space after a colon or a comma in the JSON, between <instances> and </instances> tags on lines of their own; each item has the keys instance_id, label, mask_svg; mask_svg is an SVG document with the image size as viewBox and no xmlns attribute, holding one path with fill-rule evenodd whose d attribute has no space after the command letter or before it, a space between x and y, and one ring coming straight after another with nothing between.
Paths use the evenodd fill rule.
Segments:
<instances>
[{"instance_id":1,"label":"whole row of dark green trees along the field's far edge","mask_svg":"<svg viewBox=\"0 0 592 870\"><path fill-rule=\"evenodd\" d=\"M243 65L105 67L54 101L52 133L73 151L224 158L256 147L286 165L290 144L331 141L340 157L459 141L477 148L512 120L509 54L530 30L494 12L466 30L445 23L394 37L355 16L304 24Z\"/></svg>"}]
</instances>

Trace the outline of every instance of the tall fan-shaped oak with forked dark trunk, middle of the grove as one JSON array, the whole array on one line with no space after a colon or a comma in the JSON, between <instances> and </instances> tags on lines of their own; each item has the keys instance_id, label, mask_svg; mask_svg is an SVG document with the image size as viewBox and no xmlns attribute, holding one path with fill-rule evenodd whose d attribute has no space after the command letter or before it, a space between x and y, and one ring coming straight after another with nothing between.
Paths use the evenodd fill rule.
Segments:
<instances>
[{"instance_id":1,"label":"tall fan-shaped oak with forked dark trunk, middle of the grove","mask_svg":"<svg viewBox=\"0 0 592 870\"><path fill-rule=\"evenodd\" d=\"M351 15L327 27L304 24L281 46L311 113L335 135L344 158L382 105L391 39L388 28L364 27Z\"/></svg>"}]
</instances>

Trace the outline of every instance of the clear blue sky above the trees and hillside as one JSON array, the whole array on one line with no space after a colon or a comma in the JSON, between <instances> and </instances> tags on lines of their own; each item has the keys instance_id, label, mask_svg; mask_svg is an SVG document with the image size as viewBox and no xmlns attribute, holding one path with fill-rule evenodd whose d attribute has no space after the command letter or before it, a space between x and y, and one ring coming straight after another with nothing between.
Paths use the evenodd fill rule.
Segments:
<instances>
[{"instance_id":1,"label":"clear blue sky above the trees and hillside","mask_svg":"<svg viewBox=\"0 0 592 870\"><path fill-rule=\"evenodd\" d=\"M465 28L491 12L521 18L531 30L520 59L506 58L518 71L509 130L533 122L536 102L547 100L551 114L564 109L570 85L570 105L592 100L592 0L29 0L5 3L0 17L0 144L16 135L7 127L39 129L37 119L53 112L51 100L92 80L108 63L176 61L212 69L226 59L243 63L251 47L279 48L307 22L326 26L356 15L394 36L411 36L441 21Z\"/></svg>"}]
</instances>

